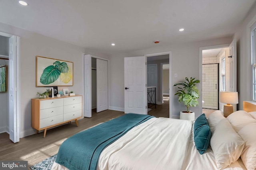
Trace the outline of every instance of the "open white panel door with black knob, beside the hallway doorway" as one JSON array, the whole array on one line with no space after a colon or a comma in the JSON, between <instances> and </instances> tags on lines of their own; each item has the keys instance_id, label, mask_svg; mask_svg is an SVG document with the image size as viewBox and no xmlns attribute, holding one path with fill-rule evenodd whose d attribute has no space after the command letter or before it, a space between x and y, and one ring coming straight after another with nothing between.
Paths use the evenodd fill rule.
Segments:
<instances>
[{"instance_id":1,"label":"open white panel door with black knob, beside the hallway doorway","mask_svg":"<svg viewBox=\"0 0 256 170\"><path fill-rule=\"evenodd\" d=\"M146 57L124 58L124 113L148 114Z\"/></svg>"}]
</instances>

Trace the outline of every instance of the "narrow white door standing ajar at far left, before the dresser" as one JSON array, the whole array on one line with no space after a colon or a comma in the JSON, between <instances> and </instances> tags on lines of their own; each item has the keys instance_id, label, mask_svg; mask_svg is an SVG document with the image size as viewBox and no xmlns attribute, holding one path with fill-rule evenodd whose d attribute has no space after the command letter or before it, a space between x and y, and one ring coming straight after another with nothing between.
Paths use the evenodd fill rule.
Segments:
<instances>
[{"instance_id":1,"label":"narrow white door standing ajar at far left, before the dresser","mask_svg":"<svg viewBox=\"0 0 256 170\"><path fill-rule=\"evenodd\" d=\"M16 77L16 43L17 37L9 38L9 68L8 68L8 90L9 90L9 135L16 143L20 141L20 118L17 113L17 77Z\"/></svg>"}]
</instances>

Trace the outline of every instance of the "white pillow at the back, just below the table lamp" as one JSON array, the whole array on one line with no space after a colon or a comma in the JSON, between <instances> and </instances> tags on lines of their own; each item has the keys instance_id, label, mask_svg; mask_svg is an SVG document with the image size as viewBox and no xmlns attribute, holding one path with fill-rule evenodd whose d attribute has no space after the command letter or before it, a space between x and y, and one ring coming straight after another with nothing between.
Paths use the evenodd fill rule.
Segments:
<instances>
[{"instance_id":1,"label":"white pillow at the back, just below the table lamp","mask_svg":"<svg viewBox=\"0 0 256 170\"><path fill-rule=\"evenodd\" d=\"M244 110L235 111L227 119L236 132L240 131L245 125L256 123L256 119Z\"/></svg>"}]
</instances>

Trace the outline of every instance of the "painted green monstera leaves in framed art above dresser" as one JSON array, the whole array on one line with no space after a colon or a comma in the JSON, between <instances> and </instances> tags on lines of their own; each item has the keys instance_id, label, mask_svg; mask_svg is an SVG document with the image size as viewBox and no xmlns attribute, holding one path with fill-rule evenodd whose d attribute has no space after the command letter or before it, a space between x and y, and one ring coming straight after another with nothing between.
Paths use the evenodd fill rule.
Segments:
<instances>
[{"instance_id":1,"label":"painted green monstera leaves in framed art above dresser","mask_svg":"<svg viewBox=\"0 0 256 170\"><path fill-rule=\"evenodd\" d=\"M42 84L55 82L61 73L68 73L68 65L65 62L55 61L53 65L46 67L40 77Z\"/></svg>"}]
</instances>

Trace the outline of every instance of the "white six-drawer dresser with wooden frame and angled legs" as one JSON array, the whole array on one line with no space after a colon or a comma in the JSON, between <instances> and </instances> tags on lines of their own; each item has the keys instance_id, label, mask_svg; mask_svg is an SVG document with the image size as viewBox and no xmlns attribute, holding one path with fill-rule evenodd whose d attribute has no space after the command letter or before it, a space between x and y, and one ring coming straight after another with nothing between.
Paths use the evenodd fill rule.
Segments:
<instances>
[{"instance_id":1,"label":"white six-drawer dresser with wooden frame and angled legs","mask_svg":"<svg viewBox=\"0 0 256 170\"><path fill-rule=\"evenodd\" d=\"M31 99L31 126L38 131L82 118L82 96Z\"/></svg>"}]
</instances>

